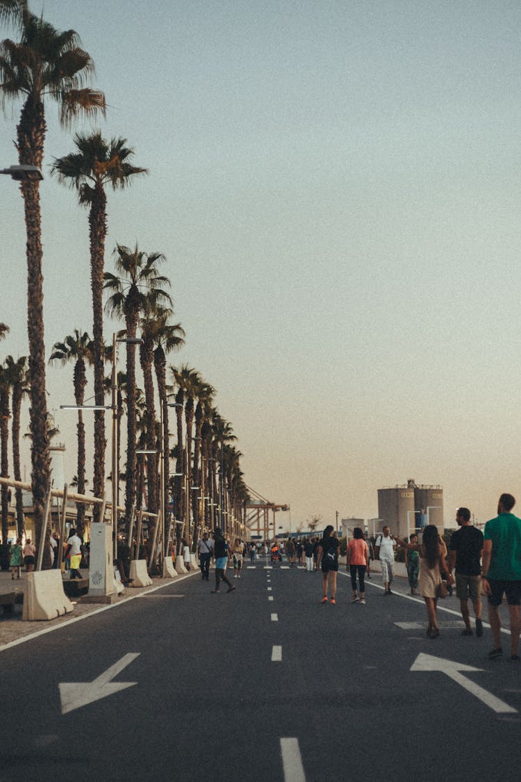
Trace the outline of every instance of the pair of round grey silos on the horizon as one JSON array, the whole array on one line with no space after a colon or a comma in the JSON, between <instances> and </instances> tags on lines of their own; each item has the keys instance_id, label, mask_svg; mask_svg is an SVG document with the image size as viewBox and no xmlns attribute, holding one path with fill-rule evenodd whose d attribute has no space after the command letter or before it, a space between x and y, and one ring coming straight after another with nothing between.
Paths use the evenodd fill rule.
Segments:
<instances>
[{"instance_id":1,"label":"pair of round grey silos on the horizon","mask_svg":"<svg viewBox=\"0 0 521 782\"><path fill-rule=\"evenodd\" d=\"M435 524L442 533L443 489L416 486L414 479L409 479L405 486L379 489L378 516L382 519L381 526L390 526L391 533L401 538L427 524Z\"/></svg>"}]
</instances>

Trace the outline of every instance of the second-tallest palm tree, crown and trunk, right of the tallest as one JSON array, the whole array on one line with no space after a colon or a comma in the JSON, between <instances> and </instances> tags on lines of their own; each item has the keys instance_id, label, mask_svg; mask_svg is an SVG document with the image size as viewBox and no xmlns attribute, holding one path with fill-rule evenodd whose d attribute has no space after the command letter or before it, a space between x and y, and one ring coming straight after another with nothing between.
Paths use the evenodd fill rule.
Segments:
<instances>
[{"instance_id":1,"label":"second-tallest palm tree, crown and trunk, right of the tallest","mask_svg":"<svg viewBox=\"0 0 521 782\"><path fill-rule=\"evenodd\" d=\"M62 185L76 188L80 206L89 210L89 239L91 242L91 295L94 336L94 391L96 404L104 404L104 343L103 343L103 272L105 238L107 235L107 198L105 188L123 189L137 174L146 174L145 168L132 166L129 160L134 149L126 138L105 141L101 131L74 137L77 151L55 158L51 174L58 176ZM94 483L95 497L102 497L105 481L105 413L95 412ZM99 508L96 506L96 511ZM97 517L95 517L97 518Z\"/></svg>"}]
</instances>

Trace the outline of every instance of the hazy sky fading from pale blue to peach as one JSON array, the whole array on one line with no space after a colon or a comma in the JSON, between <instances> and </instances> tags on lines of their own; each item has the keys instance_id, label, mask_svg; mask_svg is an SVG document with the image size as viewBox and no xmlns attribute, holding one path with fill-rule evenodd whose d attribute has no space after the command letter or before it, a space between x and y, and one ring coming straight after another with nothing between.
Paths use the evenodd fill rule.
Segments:
<instances>
[{"instance_id":1,"label":"hazy sky fading from pale blue to peach","mask_svg":"<svg viewBox=\"0 0 521 782\"><path fill-rule=\"evenodd\" d=\"M408 479L443 486L447 525L519 494L519 2L30 5L80 34L108 104L94 127L149 170L108 195L105 268L116 242L165 253L187 332L170 363L217 389L248 486L291 506L280 526L376 517L376 490ZM19 113L0 117L0 167ZM50 355L92 317L87 212L49 175L73 138L52 102L46 118ZM17 357L25 238L7 177L0 203L1 348ZM49 368L47 388L72 477L72 369Z\"/></svg>"}]
</instances>

